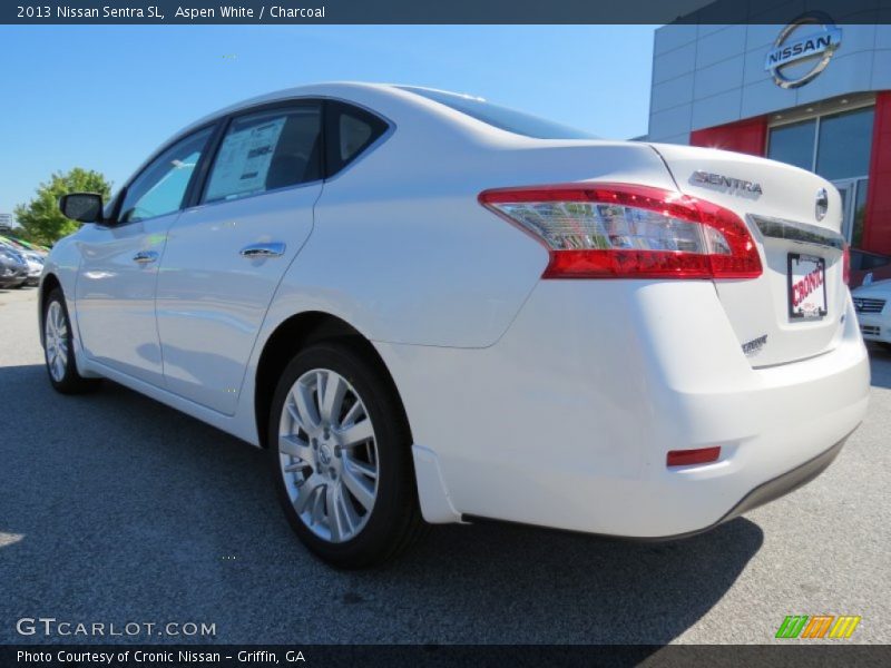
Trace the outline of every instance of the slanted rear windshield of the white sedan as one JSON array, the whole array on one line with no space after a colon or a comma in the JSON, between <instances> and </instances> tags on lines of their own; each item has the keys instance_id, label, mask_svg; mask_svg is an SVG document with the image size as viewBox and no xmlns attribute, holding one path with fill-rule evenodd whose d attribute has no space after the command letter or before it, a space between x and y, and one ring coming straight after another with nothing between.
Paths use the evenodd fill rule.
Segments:
<instances>
[{"instance_id":1,"label":"slanted rear windshield of the white sedan","mask_svg":"<svg viewBox=\"0 0 891 668\"><path fill-rule=\"evenodd\" d=\"M434 102L451 107L456 111L466 114L471 118L481 120L500 130L507 130L516 135L523 135L533 139L597 139L596 135L579 130L569 126L560 125L538 116L492 105L482 98L474 98L444 90L431 90L430 88L415 88L413 86L399 86L402 90L408 90L421 97L425 97Z\"/></svg>"}]
</instances>

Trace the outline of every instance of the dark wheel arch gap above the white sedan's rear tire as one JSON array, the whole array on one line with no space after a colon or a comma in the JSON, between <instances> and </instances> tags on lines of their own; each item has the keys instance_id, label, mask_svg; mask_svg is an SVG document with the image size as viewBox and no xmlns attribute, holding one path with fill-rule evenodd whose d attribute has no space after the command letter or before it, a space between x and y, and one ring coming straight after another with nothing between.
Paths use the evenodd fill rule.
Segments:
<instances>
[{"instance_id":1,"label":"dark wheel arch gap above the white sedan's rear tire","mask_svg":"<svg viewBox=\"0 0 891 668\"><path fill-rule=\"evenodd\" d=\"M322 311L307 311L284 320L266 340L257 362L254 383L254 420L261 448L268 448L268 415L282 370L291 358L309 345L322 341L339 341L361 354L390 385L399 402L405 424L411 425L405 404L374 344L346 321Z\"/></svg>"}]
</instances>

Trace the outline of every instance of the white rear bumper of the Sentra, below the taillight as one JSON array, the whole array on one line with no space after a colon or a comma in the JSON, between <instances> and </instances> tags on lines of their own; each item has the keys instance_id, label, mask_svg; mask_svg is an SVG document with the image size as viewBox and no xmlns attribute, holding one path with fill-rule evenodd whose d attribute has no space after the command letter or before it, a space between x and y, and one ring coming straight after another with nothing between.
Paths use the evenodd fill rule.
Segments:
<instances>
[{"instance_id":1,"label":"white rear bumper of the Sentra, below the taillight","mask_svg":"<svg viewBox=\"0 0 891 668\"><path fill-rule=\"evenodd\" d=\"M863 419L869 360L850 303L831 352L753 369L709 283L609 283L542 282L488 348L379 344L432 453L415 455L435 468L419 480L441 487L420 489L422 509L457 515L428 520L698 532L806 482L794 472L828 465ZM669 450L714 445L716 462L666 466Z\"/></svg>"}]
</instances>

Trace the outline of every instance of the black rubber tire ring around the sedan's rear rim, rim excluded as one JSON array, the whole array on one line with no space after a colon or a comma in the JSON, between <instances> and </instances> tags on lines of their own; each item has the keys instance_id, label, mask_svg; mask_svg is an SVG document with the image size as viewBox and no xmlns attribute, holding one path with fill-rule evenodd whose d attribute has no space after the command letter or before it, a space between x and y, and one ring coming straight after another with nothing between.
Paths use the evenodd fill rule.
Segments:
<instances>
[{"instance_id":1,"label":"black rubber tire ring around the sedan's rear rim, rim excluded","mask_svg":"<svg viewBox=\"0 0 891 668\"><path fill-rule=\"evenodd\" d=\"M325 369L339 373L362 399L374 426L378 445L378 495L371 517L359 536L332 543L315 536L291 504L281 472L278 424L293 384L307 371ZM275 488L291 527L315 554L340 568L362 568L385 559L398 540L407 508L417 503L411 464L411 436L393 389L368 358L345 345L315 344L298 353L282 373L268 424L268 454Z\"/></svg>"}]
</instances>

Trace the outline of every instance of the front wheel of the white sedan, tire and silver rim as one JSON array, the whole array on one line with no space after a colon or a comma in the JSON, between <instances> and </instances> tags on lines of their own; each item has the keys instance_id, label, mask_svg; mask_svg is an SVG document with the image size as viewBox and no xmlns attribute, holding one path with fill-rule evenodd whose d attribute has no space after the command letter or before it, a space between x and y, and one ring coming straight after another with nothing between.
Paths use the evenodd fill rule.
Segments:
<instances>
[{"instance_id":1,"label":"front wheel of the white sedan, tire and silver rim","mask_svg":"<svg viewBox=\"0 0 891 668\"><path fill-rule=\"evenodd\" d=\"M47 364L49 382L62 394L94 392L101 384L100 379L85 379L77 372L71 320L65 295L53 288L43 306L43 360Z\"/></svg>"}]
</instances>

